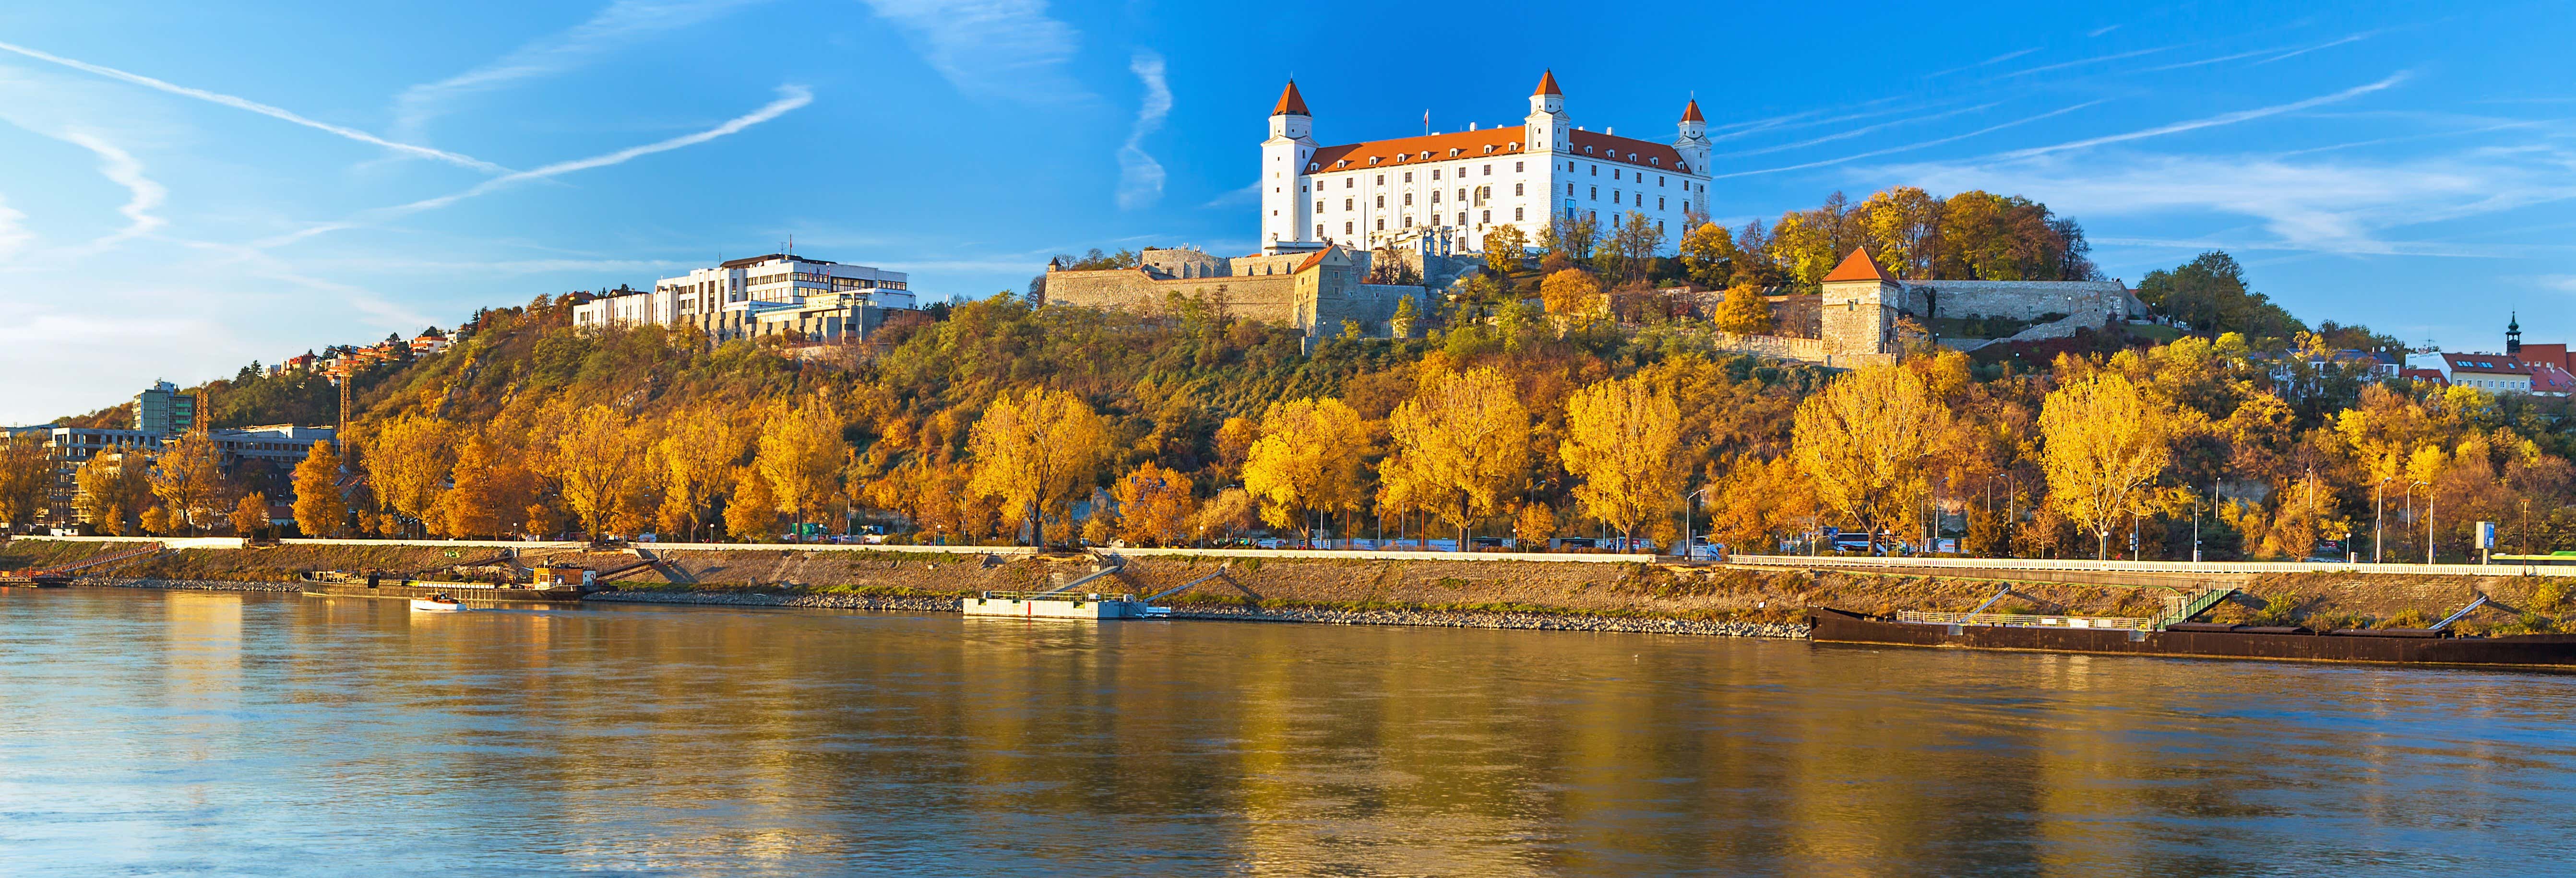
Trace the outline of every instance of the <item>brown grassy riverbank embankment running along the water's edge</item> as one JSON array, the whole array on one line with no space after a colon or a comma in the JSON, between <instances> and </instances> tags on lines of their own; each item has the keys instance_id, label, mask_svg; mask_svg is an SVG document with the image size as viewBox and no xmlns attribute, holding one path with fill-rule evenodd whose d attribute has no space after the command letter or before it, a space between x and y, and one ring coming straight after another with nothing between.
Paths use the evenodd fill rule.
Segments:
<instances>
[{"instance_id":1,"label":"brown grassy riverbank embankment running along the water's edge","mask_svg":"<svg viewBox=\"0 0 2576 878\"><path fill-rule=\"evenodd\" d=\"M57 566L134 543L0 546L0 569ZM294 590L301 572L433 572L489 559L495 548L440 543L340 543L260 548L178 548L118 564L90 584L178 582L191 590ZM1043 590L1095 572L1087 554L933 554L884 548L757 546L732 551L654 551L662 561L613 582L629 602L783 605L850 610L953 610L974 592ZM631 551L526 546L523 564L618 569ZM1522 561L1468 556L1216 556L1151 554L1082 592L1157 595L1175 618L1301 621L1345 626L1473 626L1540 631L1672 631L1710 636L1801 636L1806 608L1860 613L1968 610L1999 587L2014 595L1994 610L2130 615L2164 608L2177 587L2117 587L1798 566L1682 566L1610 561ZM2218 584L2218 582L2213 582ZM2239 584L2239 582L2226 582ZM2476 595L2494 602L2465 618L2463 633L2576 628L2576 579L2458 574L2262 574L2241 579L2249 600L2213 621L2308 623L2331 628L2403 626L2450 615Z\"/></svg>"}]
</instances>

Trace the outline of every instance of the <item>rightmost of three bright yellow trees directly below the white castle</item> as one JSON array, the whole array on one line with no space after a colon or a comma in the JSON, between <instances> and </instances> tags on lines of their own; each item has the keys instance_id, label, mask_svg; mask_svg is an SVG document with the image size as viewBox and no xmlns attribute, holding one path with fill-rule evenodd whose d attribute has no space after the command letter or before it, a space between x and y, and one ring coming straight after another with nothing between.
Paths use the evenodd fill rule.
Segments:
<instances>
[{"instance_id":1,"label":"rightmost of three bright yellow trees directly below the white castle","mask_svg":"<svg viewBox=\"0 0 2576 878\"><path fill-rule=\"evenodd\" d=\"M1574 502L1620 538L1664 515L1682 492L1682 409L1646 378L1597 381L1566 399L1566 474ZM1623 543L1625 546L1625 543Z\"/></svg>"}]
</instances>

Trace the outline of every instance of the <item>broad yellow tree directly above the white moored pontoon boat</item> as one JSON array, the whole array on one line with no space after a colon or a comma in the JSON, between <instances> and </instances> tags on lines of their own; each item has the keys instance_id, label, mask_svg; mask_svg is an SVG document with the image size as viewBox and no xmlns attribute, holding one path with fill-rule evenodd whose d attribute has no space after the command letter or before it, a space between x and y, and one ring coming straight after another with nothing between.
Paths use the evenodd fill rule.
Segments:
<instances>
[{"instance_id":1,"label":"broad yellow tree directly above the white moored pontoon boat","mask_svg":"<svg viewBox=\"0 0 2576 878\"><path fill-rule=\"evenodd\" d=\"M966 433L979 497L1002 505L1002 518L1043 541L1048 512L1090 489L1108 456L1108 422L1082 397L1028 389L999 397Z\"/></svg>"}]
</instances>

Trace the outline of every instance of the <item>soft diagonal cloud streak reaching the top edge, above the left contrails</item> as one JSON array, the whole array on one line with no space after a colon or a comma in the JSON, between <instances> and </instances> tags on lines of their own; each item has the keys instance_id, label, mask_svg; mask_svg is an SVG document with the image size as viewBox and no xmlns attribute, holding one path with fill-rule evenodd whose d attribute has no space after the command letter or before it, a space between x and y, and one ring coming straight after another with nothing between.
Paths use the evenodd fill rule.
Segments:
<instances>
[{"instance_id":1,"label":"soft diagonal cloud streak reaching the top edge, above the left contrails","mask_svg":"<svg viewBox=\"0 0 2576 878\"><path fill-rule=\"evenodd\" d=\"M397 136L420 136L430 118L464 95L507 88L582 67L636 39L698 26L760 0L618 0L562 33L528 41L500 59L461 75L422 82L394 98Z\"/></svg>"}]
</instances>

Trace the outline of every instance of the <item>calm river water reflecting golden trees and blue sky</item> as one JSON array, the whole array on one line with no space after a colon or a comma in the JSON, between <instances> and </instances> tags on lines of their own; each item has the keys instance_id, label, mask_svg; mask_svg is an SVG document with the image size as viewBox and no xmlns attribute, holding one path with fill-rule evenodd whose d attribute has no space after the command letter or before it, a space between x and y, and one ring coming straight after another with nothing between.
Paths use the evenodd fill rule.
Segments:
<instances>
[{"instance_id":1,"label":"calm river water reflecting golden trees and blue sky","mask_svg":"<svg viewBox=\"0 0 2576 878\"><path fill-rule=\"evenodd\" d=\"M0 873L2496 873L2576 677L0 590Z\"/></svg>"}]
</instances>

